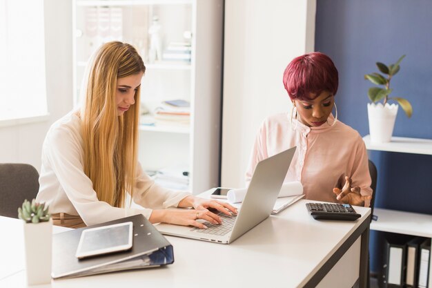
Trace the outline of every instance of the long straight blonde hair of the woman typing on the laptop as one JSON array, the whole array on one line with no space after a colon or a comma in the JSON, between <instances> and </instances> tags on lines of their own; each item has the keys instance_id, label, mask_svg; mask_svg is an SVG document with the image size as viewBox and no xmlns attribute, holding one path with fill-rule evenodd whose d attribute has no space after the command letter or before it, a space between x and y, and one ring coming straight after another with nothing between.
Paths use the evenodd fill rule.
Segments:
<instances>
[{"instance_id":1,"label":"long straight blonde hair of the woman typing on the laptop","mask_svg":"<svg viewBox=\"0 0 432 288\"><path fill-rule=\"evenodd\" d=\"M124 207L126 191L132 195L137 166L139 95L135 105L117 115L117 79L144 73L137 50L119 41L104 44L93 56L81 107L84 173L100 201Z\"/></svg>"}]
</instances>

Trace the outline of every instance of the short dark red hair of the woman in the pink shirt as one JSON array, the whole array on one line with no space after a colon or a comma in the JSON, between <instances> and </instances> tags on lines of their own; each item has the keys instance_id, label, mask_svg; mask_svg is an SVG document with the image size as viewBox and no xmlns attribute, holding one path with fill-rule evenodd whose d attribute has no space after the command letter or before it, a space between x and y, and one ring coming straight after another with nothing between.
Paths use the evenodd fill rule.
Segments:
<instances>
[{"instance_id":1,"label":"short dark red hair of the woman in the pink shirt","mask_svg":"<svg viewBox=\"0 0 432 288\"><path fill-rule=\"evenodd\" d=\"M294 58L285 68L283 81L291 100L311 99L309 93L315 97L323 91L336 95L339 76L330 57L312 52Z\"/></svg>"}]
</instances>

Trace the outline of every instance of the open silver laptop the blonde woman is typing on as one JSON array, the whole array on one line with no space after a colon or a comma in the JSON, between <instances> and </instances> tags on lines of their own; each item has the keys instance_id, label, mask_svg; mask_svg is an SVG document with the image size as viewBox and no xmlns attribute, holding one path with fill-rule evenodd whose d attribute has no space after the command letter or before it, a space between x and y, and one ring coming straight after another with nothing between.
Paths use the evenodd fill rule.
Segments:
<instances>
[{"instance_id":1,"label":"open silver laptop the blonde woman is typing on","mask_svg":"<svg viewBox=\"0 0 432 288\"><path fill-rule=\"evenodd\" d=\"M208 229L161 223L156 229L162 234L229 244L266 220L275 205L296 146L259 162L237 215L218 213L222 224L205 222ZM203 221L204 220L199 220Z\"/></svg>"}]
</instances>

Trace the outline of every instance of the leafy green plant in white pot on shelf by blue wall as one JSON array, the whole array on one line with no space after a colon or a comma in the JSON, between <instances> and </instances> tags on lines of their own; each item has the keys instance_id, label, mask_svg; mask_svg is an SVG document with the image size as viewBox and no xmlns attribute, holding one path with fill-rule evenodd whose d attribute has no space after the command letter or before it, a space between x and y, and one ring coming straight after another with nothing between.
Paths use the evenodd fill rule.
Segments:
<instances>
[{"instance_id":1,"label":"leafy green plant in white pot on shelf by blue wall","mask_svg":"<svg viewBox=\"0 0 432 288\"><path fill-rule=\"evenodd\" d=\"M368 90L369 99L372 101L372 103L368 104L369 134L371 135L372 142L390 142L399 105L404 110L406 116L411 117L413 114L413 107L408 100L401 97L390 97L390 94L393 92L393 89L390 88L390 81L399 72L399 64L404 57L405 55L402 55L395 64L389 66L377 62L378 70L385 76L380 73L364 75L364 79L382 86L371 87ZM380 102L381 100L382 102ZM389 100L394 100L399 105L394 103L389 104Z\"/></svg>"}]
</instances>

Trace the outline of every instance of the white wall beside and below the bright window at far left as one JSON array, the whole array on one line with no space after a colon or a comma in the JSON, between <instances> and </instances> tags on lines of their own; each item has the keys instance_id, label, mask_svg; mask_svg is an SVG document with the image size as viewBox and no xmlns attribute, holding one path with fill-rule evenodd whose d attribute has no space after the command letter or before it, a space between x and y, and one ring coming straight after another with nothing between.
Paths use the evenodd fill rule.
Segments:
<instances>
[{"instance_id":1,"label":"white wall beside and below the bright window at far left","mask_svg":"<svg viewBox=\"0 0 432 288\"><path fill-rule=\"evenodd\" d=\"M38 171L48 128L72 109L72 3L69 0L45 0L44 5L46 93L50 117L44 122L0 126L0 162L28 163ZM26 85L26 77L32 77L32 71L23 71L23 85Z\"/></svg>"}]
</instances>

